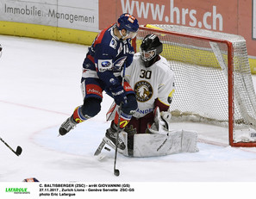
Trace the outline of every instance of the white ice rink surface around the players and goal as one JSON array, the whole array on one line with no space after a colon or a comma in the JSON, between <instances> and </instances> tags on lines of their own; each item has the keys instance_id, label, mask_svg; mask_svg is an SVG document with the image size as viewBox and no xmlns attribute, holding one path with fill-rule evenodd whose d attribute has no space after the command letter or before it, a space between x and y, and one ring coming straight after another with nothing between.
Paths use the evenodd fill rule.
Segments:
<instances>
[{"instance_id":1,"label":"white ice rink surface around the players and goal","mask_svg":"<svg viewBox=\"0 0 256 199\"><path fill-rule=\"evenodd\" d=\"M80 78L87 47L3 35L0 43L0 137L23 149L17 157L0 142L0 182L28 177L41 182L255 182L255 151L202 142L193 153L144 159L118 154L121 174L116 177L113 150L104 150L102 161L93 156L109 127L109 96L103 96L96 117L58 137L60 124L83 101ZM197 130L199 139L203 132L222 132L209 125L179 127Z\"/></svg>"}]
</instances>

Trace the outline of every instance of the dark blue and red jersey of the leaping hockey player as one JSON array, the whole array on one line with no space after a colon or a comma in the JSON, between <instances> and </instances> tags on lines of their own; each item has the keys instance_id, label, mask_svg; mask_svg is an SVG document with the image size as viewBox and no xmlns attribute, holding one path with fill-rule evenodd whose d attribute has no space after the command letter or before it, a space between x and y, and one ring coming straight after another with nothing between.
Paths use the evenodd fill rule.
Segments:
<instances>
[{"instance_id":1,"label":"dark blue and red jersey of the leaping hockey player","mask_svg":"<svg viewBox=\"0 0 256 199\"><path fill-rule=\"evenodd\" d=\"M130 65L134 57L134 47L130 39L119 40L114 34L116 24L97 35L84 59L84 72L88 75L83 78L99 78L106 88L121 84L118 76L122 71L122 65ZM90 75L91 74L91 75Z\"/></svg>"}]
</instances>

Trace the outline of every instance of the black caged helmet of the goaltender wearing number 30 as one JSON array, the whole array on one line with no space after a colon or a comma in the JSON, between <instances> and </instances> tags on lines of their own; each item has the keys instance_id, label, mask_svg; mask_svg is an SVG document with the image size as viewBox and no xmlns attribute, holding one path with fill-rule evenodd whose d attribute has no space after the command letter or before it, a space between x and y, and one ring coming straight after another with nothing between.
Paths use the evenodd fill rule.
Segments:
<instances>
[{"instance_id":1,"label":"black caged helmet of the goaltender wearing number 30","mask_svg":"<svg viewBox=\"0 0 256 199\"><path fill-rule=\"evenodd\" d=\"M157 59L157 55L162 53L162 51L163 44L156 34L147 34L147 36L142 40L140 45L140 54L146 67L153 65Z\"/></svg>"}]
</instances>

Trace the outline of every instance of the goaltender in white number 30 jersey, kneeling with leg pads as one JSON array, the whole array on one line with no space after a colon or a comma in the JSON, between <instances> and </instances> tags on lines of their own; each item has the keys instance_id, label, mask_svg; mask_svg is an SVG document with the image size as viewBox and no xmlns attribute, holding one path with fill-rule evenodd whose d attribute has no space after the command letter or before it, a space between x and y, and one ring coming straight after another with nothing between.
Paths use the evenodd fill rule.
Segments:
<instances>
[{"instance_id":1,"label":"goaltender in white number 30 jersey, kneeling with leg pads","mask_svg":"<svg viewBox=\"0 0 256 199\"><path fill-rule=\"evenodd\" d=\"M134 54L132 64L126 69L125 79L135 92L138 109L120 134L126 143L124 155L151 157L198 151L196 132L172 130L172 115L168 110L175 91L174 72L159 55L162 51L159 37L147 34L140 53Z\"/></svg>"}]
</instances>

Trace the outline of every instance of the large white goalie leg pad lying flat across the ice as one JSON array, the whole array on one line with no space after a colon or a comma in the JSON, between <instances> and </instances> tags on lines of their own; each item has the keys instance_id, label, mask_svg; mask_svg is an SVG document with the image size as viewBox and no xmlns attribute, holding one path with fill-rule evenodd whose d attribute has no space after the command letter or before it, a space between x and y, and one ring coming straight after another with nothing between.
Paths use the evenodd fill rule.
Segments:
<instances>
[{"instance_id":1,"label":"large white goalie leg pad lying flat across the ice","mask_svg":"<svg viewBox=\"0 0 256 199\"><path fill-rule=\"evenodd\" d=\"M135 134L134 157L155 157L198 152L197 132L178 130L169 134Z\"/></svg>"}]
</instances>

